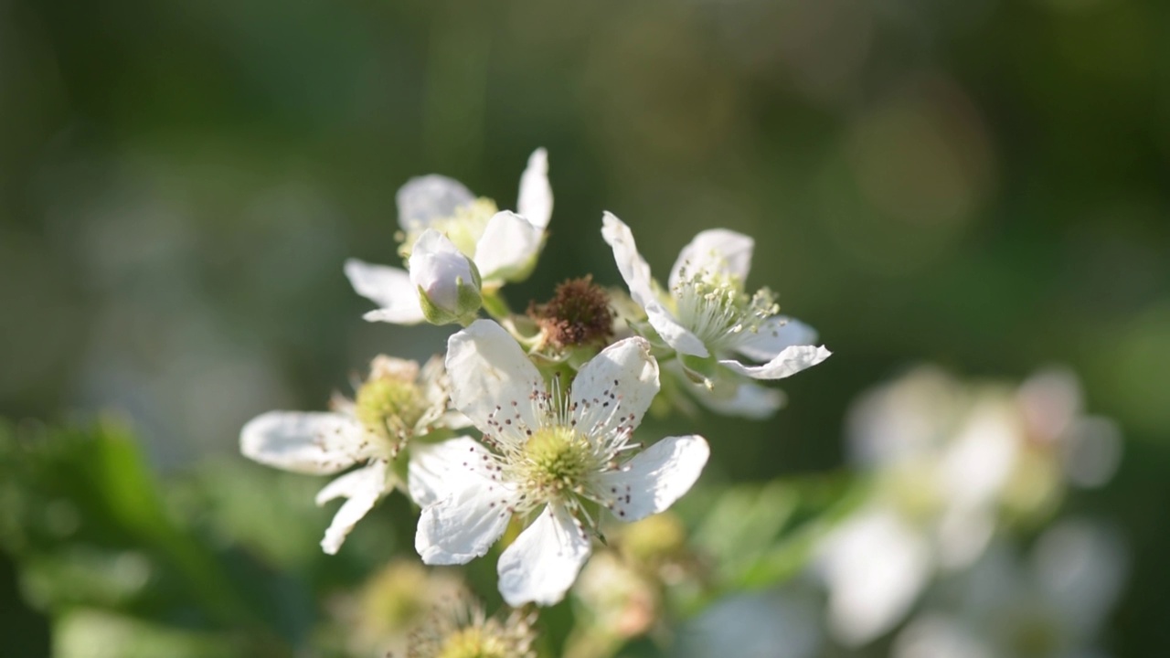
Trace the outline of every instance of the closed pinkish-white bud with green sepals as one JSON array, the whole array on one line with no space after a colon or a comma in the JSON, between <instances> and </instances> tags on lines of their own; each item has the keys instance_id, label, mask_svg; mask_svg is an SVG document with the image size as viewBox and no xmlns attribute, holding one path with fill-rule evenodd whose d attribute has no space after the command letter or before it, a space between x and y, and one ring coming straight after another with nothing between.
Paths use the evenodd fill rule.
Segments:
<instances>
[{"instance_id":1,"label":"closed pinkish-white bud with green sepals","mask_svg":"<svg viewBox=\"0 0 1170 658\"><path fill-rule=\"evenodd\" d=\"M422 314L432 324L464 323L480 310L480 273L442 233L428 228L419 235L410 269Z\"/></svg>"}]
</instances>

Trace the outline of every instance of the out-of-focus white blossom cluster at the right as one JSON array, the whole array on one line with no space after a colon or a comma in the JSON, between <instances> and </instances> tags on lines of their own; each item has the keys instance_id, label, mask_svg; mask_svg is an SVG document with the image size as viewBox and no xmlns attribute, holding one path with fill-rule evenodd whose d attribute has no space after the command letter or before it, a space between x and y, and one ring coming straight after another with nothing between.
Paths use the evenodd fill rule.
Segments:
<instances>
[{"instance_id":1,"label":"out-of-focus white blossom cluster at the right","mask_svg":"<svg viewBox=\"0 0 1170 658\"><path fill-rule=\"evenodd\" d=\"M1079 413L1075 379L1062 371L1013 390L923 366L862 396L848 416L848 448L874 491L818 561L838 639L859 645L886 633L935 571L976 562L1005 516L1051 512L1065 481L1076 481L1062 469L1078 464L1067 457L1074 446L1096 446L1088 461L1106 467L1093 479L1103 478L1120 438ZM1095 443L1078 444L1090 429Z\"/></svg>"}]
</instances>

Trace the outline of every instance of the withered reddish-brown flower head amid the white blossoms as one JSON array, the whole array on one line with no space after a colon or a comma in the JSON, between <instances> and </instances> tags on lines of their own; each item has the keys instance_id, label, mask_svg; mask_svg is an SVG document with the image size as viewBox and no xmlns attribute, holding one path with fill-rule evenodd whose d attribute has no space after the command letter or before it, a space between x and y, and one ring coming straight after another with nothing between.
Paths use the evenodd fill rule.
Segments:
<instances>
[{"instance_id":1,"label":"withered reddish-brown flower head amid the white blossoms","mask_svg":"<svg viewBox=\"0 0 1170 658\"><path fill-rule=\"evenodd\" d=\"M613 337L610 296L592 275L560 283L548 303L530 304L528 314L557 349L604 345Z\"/></svg>"}]
</instances>

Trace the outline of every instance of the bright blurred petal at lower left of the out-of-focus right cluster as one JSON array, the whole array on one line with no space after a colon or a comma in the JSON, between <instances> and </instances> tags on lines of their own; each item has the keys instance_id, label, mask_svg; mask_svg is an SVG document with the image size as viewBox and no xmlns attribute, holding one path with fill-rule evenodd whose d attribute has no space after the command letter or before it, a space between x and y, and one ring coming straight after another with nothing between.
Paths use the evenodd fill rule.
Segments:
<instances>
[{"instance_id":1,"label":"bright blurred petal at lower left of the out-of-focus right cluster","mask_svg":"<svg viewBox=\"0 0 1170 658\"><path fill-rule=\"evenodd\" d=\"M931 566L925 540L887 509L859 513L824 547L830 628L847 645L894 628L927 584Z\"/></svg>"}]
</instances>

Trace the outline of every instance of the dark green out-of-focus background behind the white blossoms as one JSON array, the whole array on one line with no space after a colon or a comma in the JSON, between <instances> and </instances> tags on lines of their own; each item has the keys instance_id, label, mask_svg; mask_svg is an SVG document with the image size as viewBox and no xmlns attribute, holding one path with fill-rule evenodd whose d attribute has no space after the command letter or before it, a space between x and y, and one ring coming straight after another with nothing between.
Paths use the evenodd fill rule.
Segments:
<instances>
[{"instance_id":1,"label":"dark green out-of-focus background behind the white blossoms","mask_svg":"<svg viewBox=\"0 0 1170 658\"><path fill-rule=\"evenodd\" d=\"M556 207L514 306L620 283L603 210L660 274L724 226L834 351L773 420L701 421L714 478L835 467L907 364L1073 366L1127 439L1071 501L1134 553L1109 643L1170 653L1165 2L0 0L0 416L112 410L163 478L239 461L250 417L441 350L342 274L395 260L398 186L514 207L537 146ZM8 560L0 606L43 652Z\"/></svg>"}]
</instances>

